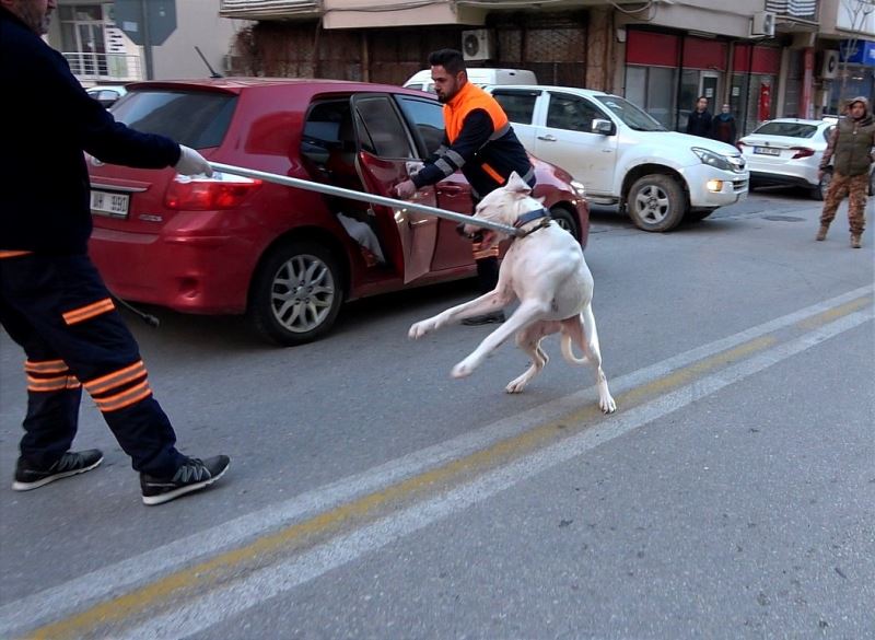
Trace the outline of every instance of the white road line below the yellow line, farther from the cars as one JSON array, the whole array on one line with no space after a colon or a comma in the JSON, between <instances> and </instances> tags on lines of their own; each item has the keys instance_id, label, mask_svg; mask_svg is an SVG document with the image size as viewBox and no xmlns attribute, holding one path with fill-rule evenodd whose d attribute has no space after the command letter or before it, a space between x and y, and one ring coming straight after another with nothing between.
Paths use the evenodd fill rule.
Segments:
<instances>
[{"instance_id":1,"label":"white road line below the yellow line, farther from the cars","mask_svg":"<svg viewBox=\"0 0 875 640\"><path fill-rule=\"evenodd\" d=\"M238 582L210 591L199 598L189 601L185 606L151 618L135 629L125 629L124 637L128 640L156 640L160 638L171 640L186 638L209 629L365 554L397 542L402 536L410 535L441 519L488 500L537 474L872 319L872 309L853 313L800 338L697 380L628 412L615 414L599 427L587 429L578 435L526 455L514 463L489 472L469 484L413 504L361 530L338 536L300 557L272 565Z\"/></svg>"}]
</instances>

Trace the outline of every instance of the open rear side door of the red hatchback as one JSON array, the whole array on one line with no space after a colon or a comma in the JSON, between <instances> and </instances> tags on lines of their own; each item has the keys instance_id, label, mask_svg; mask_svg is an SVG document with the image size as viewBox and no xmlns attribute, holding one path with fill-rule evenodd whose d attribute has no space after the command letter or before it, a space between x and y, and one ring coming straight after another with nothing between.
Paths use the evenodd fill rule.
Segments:
<instances>
[{"instance_id":1,"label":"open rear side door of the red hatchback","mask_svg":"<svg viewBox=\"0 0 875 640\"><path fill-rule=\"evenodd\" d=\"M416 150L394 101L384 93L360 93L350 98L359 144L357 162L365 189L395 198L393 187L408 178L409 167L418 162ZM434 187L416 195L421 205L436 206ZM374 205L377 224L394 240L387 242L389 259L404 274L405 283L431 270L438 242L439 219L409 209Z\"/></svg>"}]
</instances>

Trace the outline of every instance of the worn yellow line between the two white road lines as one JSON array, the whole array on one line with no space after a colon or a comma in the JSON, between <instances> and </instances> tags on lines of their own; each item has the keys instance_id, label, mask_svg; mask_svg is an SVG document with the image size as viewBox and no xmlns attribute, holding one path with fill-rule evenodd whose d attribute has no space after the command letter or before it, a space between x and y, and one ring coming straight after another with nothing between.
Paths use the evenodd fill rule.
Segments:
<instances>
[{"instance_id":1,"label":"worn yellow line between the two white road lines","mask_svg":"<svg viewBox=\"0 0 875 640\"><path fill-rule=\"evenodd\" d=\"M871 300L871 298L861 298L851 301L813 318L806 318L797 323L797 326L804 326L805 328L815 328L815 325L821 326L835 321L837 317L858 311ZM623 408L630 408L650 396L664 395L711 371L761 352L777 342L778 339L772 336L762 336L748 340L737 347L715 353L653 382L630 389L618 397L618 405ZM602 412L597 405L592 404L561 419L551 420L524 433L500 441L488 449L452 461L352 502L341 504L279 532L265 535L248 545L225 551L187 569L175 571L125 595L98 603L84 612L40 627L30 633L27 638L33 638L34 640L81 638L101 627L133 618L143 614L150 607L161 607L171 603L174 596L184 596L186 590L197 584L217 583L222 578L230 577L234 571L245 568L247 563L257 561L259 558L270 556L280 550L288 551L303 546L313 540L314 537L324 537L338 531L346 523L374 516L381 509L386 509L400 501L410 500L418 494L447 486L453 481L459 481L467 475L483 473L509 458L520 457L527 452L544 446L550 441L564 437L564 433L572 432L573 429L565 429L569 424L581 428L584 423L596 419L600 415Z\"/></svg>"}]
</instances>

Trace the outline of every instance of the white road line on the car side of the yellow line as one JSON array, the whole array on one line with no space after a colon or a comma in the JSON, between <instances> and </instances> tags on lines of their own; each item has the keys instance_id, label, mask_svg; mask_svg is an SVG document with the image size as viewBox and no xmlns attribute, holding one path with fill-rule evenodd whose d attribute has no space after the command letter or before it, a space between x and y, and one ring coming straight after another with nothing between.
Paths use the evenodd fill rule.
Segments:
<instances>
[{"instance_id":1,"label":"white road line on the car side of the yellow line","mask_svg":"<svg viewBox=\"0 0 875 640\"><path fill-rule=\"evenodd\" d=\"M692 362L786 328L800 321L872 293L871 286L854 289L621 377L612 379L610 381L611 388L616 395L619 395ZM97 569L57 586L7 603L0 607L0 637L13 636L15 630L31 629L73 612L82 610L110 596L152 582L173 570L191 565L200 558L242 546L268 532L384 489L450 459L464 457L494 442L527 431L550 419L565 416L587 403L595 402L596 393L592 387L553 399L477 431L389 461L364 473L342 478L325 487Z\"/></svg>"}]
</instances>

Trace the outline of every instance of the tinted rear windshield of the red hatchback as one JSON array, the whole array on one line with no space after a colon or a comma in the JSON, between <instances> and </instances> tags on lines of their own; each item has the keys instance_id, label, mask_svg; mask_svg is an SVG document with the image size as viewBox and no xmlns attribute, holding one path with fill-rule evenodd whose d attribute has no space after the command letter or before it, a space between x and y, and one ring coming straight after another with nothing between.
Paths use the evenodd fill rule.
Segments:
<instances>
[{"instance_id":1,"label":"tinted rear windshield of the red hatchback","mask_svg":"<svg viewBox=\"0 0 875 640\"><path fill-rule=\"evenodd\" d=\"M116 120L192 149L219 147L237 98L206 91L135 91L113 106Z\"/></svg>"}]
</instances>

